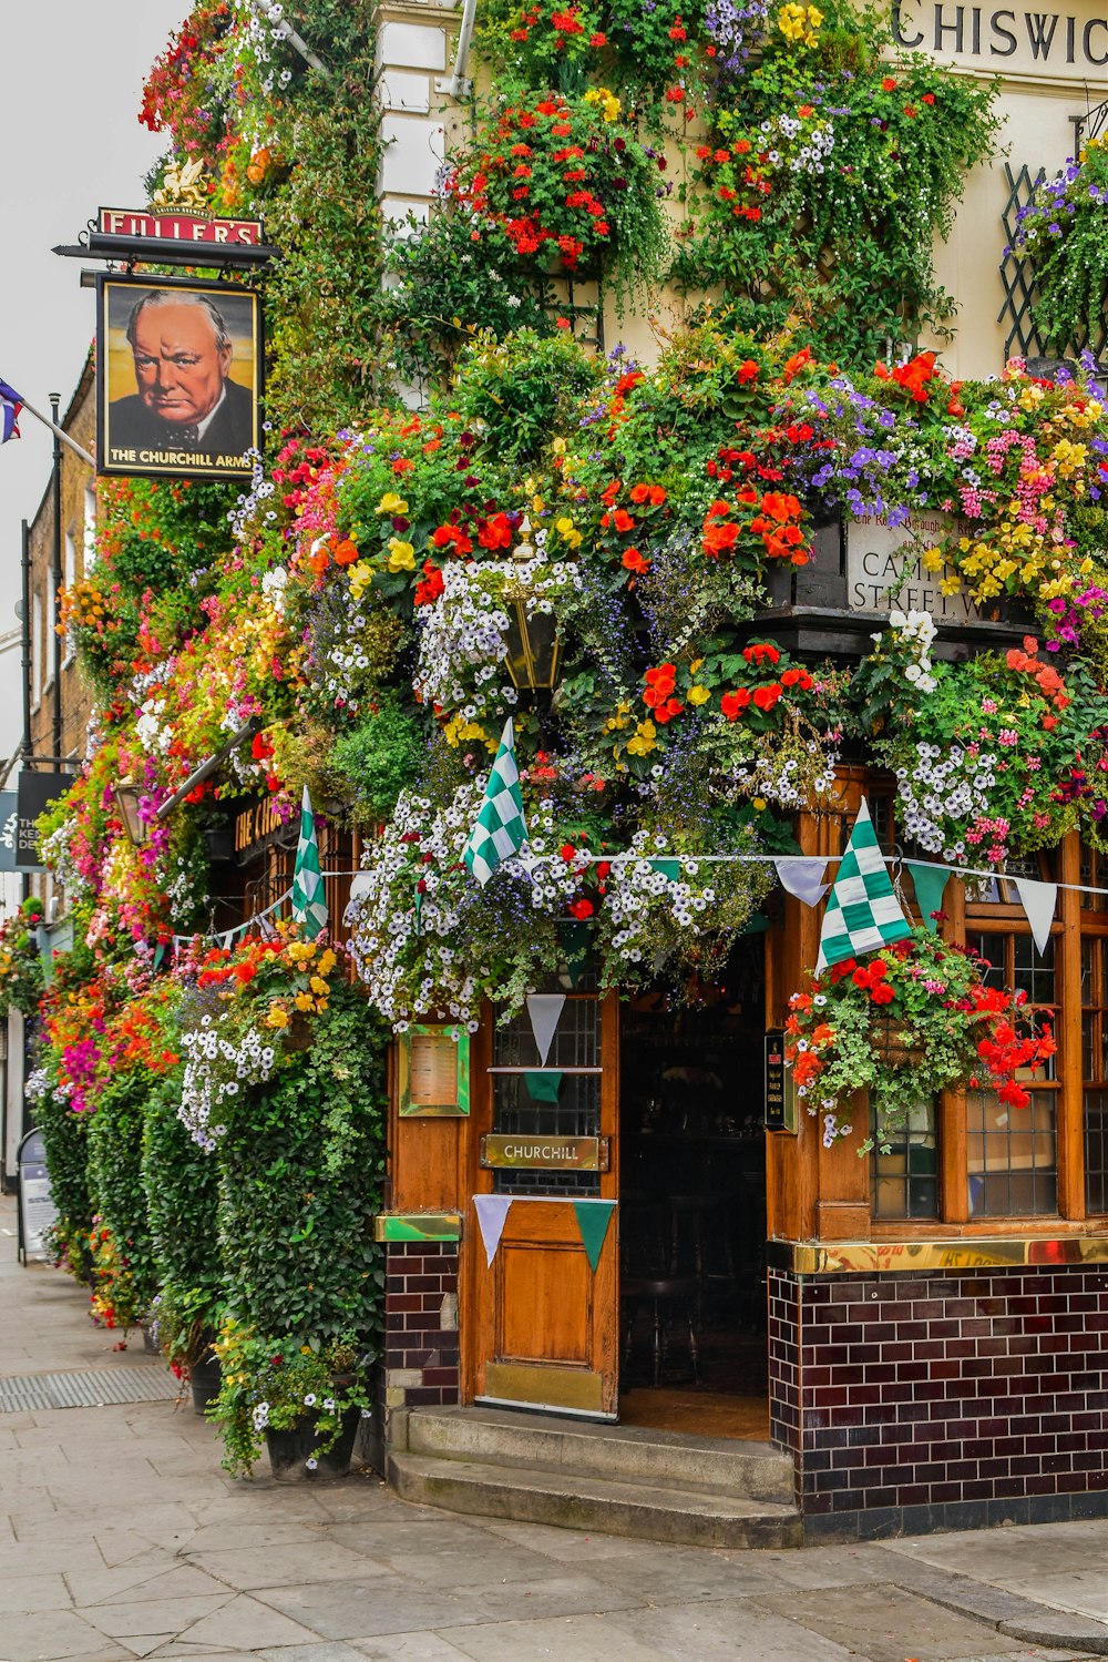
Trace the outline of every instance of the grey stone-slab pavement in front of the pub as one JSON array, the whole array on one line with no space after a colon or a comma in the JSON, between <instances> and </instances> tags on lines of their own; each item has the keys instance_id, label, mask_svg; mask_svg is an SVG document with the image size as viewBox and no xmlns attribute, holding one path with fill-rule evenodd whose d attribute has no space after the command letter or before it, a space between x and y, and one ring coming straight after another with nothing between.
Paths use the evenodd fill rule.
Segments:
<instances>
[{"instance_id":1,"label":"grey stone-slab pavement in front of the pub","mask_svg":"<svg viewBox=\"0 0 1108 1662\"><path fill-rule=\"evenodd\" d=\"M17 1263L0 1200L0 1376L161 1369L118 1338L61 1271ZM409 1506L372 1473L233 1479L191 1401L0 1411L0 1662L1090 1655L1108 1655L1108 1521L669 1547Z\"/></svg>"}]
</instances>

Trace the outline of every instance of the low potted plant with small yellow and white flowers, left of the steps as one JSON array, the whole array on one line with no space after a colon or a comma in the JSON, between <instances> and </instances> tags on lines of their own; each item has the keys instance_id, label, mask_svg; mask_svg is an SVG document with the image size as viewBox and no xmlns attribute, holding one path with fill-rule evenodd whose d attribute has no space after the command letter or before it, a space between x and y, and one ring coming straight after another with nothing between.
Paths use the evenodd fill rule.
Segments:
<instances>
[{"instance_id":1,"label":"low potted plant with small yellow and white flowers, left of the steps","mask_svg":"<svg viewBox=\"0 0 1108 1662\"><path fill-rule=\"evenodd\" d=\"M349 1473L359 1419L370 1411L372 1358L355 1335L297 1345L228 1318L214 1351L223 1378L209 1414L228 1471L249 1476L264 1446L281 1483Z\"/></svg>"}]
</instances>

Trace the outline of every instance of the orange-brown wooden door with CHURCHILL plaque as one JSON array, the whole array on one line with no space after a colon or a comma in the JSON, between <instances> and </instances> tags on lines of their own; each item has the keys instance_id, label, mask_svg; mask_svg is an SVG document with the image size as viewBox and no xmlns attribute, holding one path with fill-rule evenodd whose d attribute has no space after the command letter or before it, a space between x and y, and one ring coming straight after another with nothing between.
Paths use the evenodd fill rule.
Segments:
<instances>
[{"instance_id":1,"label":"orange-brown wooden door with CHURCHILL plaque","mask_svg":"<svg viewBox=\"0 0 1108 1662\"><path fill-rule=\"evenodd\" d=\"M547 1059L547 1069L561 1074L556 1100L532 1097L527 1074L537 1067L527 1012L508 1025L482 1024L473 1057L473 1192L512 1197L512 1203L492 1265L470 1210L473 1320L465 1343L465 1394L470 1401L615 1419L618 1207L611 1207L593 1268L575 1202L618 1198L618 997L566 996ZM550 1072L542 1077L552 1079ZM495 1150L488 1137L498 1143ZM590 1152L591 1138L601 1170L487 1163L503 1158L505 1150L513 1160L556 1158L571 1140ZM593 1207L591 1218L606 1212Z\"/></svg>"}]
</instances>

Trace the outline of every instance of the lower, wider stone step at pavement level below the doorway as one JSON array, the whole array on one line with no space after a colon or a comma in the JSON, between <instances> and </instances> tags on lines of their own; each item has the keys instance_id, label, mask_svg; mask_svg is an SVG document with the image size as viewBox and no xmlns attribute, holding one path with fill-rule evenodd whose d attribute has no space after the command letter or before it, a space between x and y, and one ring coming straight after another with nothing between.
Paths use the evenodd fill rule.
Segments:
<instances>
[{"instance_id":1,"label":"lower, wider stone step at pavement level below the doorway","mask_svg":"<svg viewBox=\"0 0 1108 1662\"><path fill-rule=\"evenodd\" d=\"M389 1483L402 1499L422 1506L671 1546L781 1549L804 1541L801 1514L791 1506L580 1471L392 1453Z\"/></svg>"}]
</instances>

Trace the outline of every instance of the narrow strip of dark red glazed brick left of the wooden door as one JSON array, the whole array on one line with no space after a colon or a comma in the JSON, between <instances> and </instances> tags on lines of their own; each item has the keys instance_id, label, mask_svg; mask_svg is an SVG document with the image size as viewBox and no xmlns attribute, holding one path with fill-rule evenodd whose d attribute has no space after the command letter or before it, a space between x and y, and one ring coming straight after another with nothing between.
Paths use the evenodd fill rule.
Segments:
<instances>
[{"instance_id":1,"label":"narrow strip of dark red glazed brick left of the wooden door","mask_svg":"<svg viewBox=\"0 0 1108 1662\"><path fill-rule=\"evenodd\" d=\"M458 1399L457 1242L395 1242L385 1250L385 1404ZM444 1326L444 1320L449 1323Z\"/></svg>"}]
</instances>

